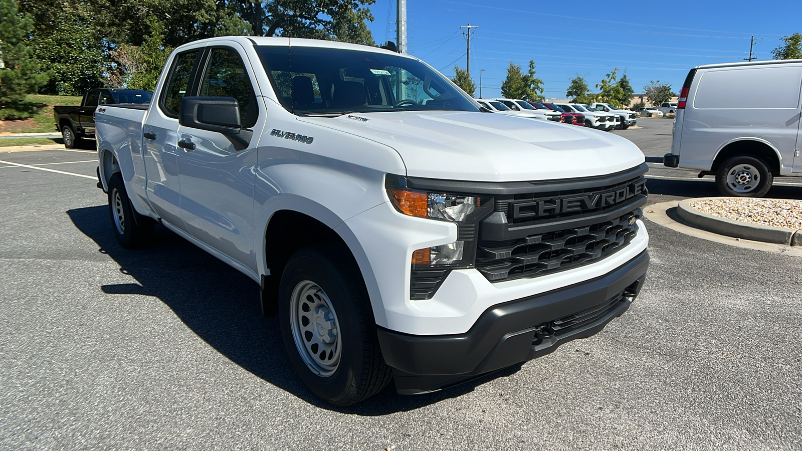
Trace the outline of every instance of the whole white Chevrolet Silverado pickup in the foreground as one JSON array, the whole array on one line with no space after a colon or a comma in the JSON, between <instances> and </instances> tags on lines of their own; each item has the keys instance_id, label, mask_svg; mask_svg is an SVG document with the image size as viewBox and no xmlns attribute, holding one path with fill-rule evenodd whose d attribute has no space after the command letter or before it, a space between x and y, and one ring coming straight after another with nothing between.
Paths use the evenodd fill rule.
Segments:
<instances>
[{"instance_id":1,"label":"whole white Chevrolet Silverado pickup in the foreground","mask_svg":"<svg viewBox=\"0 0 802 451\"><path fill-rule=\"evenodd\" d=\"M100 106L96 124L120 244L158 222L260 283L331 404L543 356L622 315L645 278L634 144L481 112L409 55L201 40L172 52L151 104Z\"/></svg>"}]
</instances>

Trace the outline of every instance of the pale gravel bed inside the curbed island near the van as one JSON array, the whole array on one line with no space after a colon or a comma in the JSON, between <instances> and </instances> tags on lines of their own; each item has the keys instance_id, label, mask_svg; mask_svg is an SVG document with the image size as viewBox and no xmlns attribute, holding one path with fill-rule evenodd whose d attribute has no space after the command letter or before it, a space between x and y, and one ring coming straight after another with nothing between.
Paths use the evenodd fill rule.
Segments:
<instances>
[{"instance_id":1,"label":"pale gravel bed inside the curbed island near the van","mask_svg":"<svg viewBox=\"0 0 802 451\"><path fill-rule=\"evenodd\" d=\"M691 201L691 207L702 213L733 221L772 225L792 230L802 229L802 201L722 197Z\"/></svg>"}]
</instances>

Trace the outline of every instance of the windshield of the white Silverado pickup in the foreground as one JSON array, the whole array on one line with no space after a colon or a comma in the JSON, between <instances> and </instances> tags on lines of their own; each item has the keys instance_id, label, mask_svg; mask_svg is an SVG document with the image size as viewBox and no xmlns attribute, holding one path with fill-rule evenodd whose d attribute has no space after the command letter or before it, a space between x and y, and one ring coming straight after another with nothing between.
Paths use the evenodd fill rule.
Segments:
<instances>
[{"instance_id":1,"label":"windshield of the white Silverado pickup in the foreground","mask_svg":"<svg viewBox=\"0 0 802 451\"><path fill-rule=\"evenodd\" d=\"M479 108L416 59L372 51L257 46L282 106L300 115Z\"/></svg>"}]
</instances>

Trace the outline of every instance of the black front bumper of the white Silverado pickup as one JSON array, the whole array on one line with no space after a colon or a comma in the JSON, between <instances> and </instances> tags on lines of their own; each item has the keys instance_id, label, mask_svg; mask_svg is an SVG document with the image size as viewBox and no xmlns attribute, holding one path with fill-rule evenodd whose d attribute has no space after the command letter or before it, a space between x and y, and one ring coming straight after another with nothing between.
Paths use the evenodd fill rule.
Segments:
<instances>
[{"instance_id":1,"label":"black front bumper of the white Silverado pickup","mask_svg":"<svg viewBox=\"0 0 802 451\"><path fill-rule=\"evenodd\" d=\"M647 266L644 250L601 277L490 307L460 335L407 335L379 328L395 388L401 394L439 390L594 335L630 307Z\"/></svg>"}]
</instances>

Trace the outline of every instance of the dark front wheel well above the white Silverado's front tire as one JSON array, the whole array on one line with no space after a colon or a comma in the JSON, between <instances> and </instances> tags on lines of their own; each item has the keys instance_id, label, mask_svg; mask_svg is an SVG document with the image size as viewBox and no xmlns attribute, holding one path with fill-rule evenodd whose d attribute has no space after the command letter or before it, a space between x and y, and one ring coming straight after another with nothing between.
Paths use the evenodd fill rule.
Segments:
<instances>
[{"instance_id":1,"label":"dark front wheel well above the white Silverado's front tire","mask_svg":"<svg viewBox=\"0 0 802 451\"><path fill-rule=\"evenodd\" d=\"M324 242L339 245L342 260L357 264L346 242L328 225L293 210L273 213L265 232L265 263L270 275L262 276L261 280L261 307L265 316L278 311L278 285L290 257L302 248Z\"/></svg>"}]
</instances>

